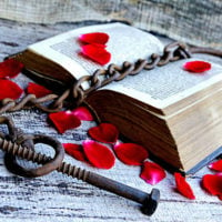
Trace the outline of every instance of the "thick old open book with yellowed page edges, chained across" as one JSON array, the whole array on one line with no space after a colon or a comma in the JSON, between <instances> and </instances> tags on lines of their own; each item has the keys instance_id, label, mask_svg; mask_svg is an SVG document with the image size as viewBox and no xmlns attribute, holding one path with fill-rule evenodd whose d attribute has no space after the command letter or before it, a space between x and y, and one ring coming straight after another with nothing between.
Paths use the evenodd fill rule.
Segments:
<instances>
[{"instance_id":1,"label":"thick old open book with yellowed page edges, chained across","mask_svg":"<svg viewBox=\"0 0 222 222\"><path fill-rule=\"evenodd\" d=\"M37 79L43 77L56 90L71 87L79 78L105 69L83 58L78 38L105 32L110 63L149 59L164 46L152 34L122 23L75 29L30 46L16 56ZM194 172L214 158L222 144L222 65L211 62L203 74L183 70L179 60L112 82L89 94L85 101L101 121L115 124L131 141L184 172ZM200 60L200 59L199 59ZM88 84L81 85L88 89Z\"/></svg>"}]
</instances>

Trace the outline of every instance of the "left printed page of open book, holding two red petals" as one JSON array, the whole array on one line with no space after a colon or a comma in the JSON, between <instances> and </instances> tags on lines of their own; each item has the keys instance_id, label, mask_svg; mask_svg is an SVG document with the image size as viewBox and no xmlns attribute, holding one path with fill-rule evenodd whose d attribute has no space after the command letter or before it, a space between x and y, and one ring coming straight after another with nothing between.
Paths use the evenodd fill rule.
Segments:
<instances>
[{"instance_id":1,"label":"left printed page of open book, holding two red petals","mask_svg":"<svg viewBox=\"0 0 222 222\"><path fill-rule=\"evenodd\" d=\"M139 58L149 58L152 53L161 53L163 50L163 44L154 36L119 22L79 28L34 43L29 50L59 63L79 79L109 65L99 65L80 54L78 38L90 32L109 34L107 50L111 53L110 63L118 65L123 61L133 62Z\"/></svg>"}]
</instances>

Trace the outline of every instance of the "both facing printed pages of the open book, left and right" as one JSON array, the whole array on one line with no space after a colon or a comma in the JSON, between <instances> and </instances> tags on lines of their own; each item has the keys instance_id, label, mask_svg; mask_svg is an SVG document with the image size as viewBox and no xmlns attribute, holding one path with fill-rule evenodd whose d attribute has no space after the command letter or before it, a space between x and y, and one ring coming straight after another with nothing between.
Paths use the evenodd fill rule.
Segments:
<instances>
[{"instance_id":1,"label":"both facing printed pages of the open book, left and right","mask_svg":"<svg viewBox=\"0 0 222 222\"><path fill-rule=\"evenodd\" d=\"M105 69L90 59L82 57L78 38L90 32L105 32L110 39L107 49L111 52L110 63L121 65L124 61L134 62L139 58L147 59L152 53L162 54L163 44L152 34L123 23L108 23L79 28L57 37L43 40L29 47L48 59L59 63L75 79L92 74L97 69ZM192 59L191 59L192 60ZM212 63L212 69L202 74L193 74L182 69L190 60L169 63L138 75L128 77L113 82L103 89L128 94L157 108L164 108L204 87L221 80L222 67ZM87 89L89 85L82 85Z\"/></svg>"}]
</instances>

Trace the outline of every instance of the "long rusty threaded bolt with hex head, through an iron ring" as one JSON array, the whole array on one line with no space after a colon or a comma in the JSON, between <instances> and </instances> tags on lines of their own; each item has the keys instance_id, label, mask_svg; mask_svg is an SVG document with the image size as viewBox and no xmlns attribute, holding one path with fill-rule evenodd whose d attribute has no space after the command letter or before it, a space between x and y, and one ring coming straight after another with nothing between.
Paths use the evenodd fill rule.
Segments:
<instances>
[{"instance_id":1,"label":"long rusty threaded bolt with hex head, through an iron ring","mask_svg":"<svg viewBox=\"0 0 222 222\"><path fill-rule=\"evenodd\" d=\"M51 158L44 154L37 153L32 149L19 145L2 138L0 138L0 149L8 153L12 153L13 155L18 155L22 159L37 162L39 164L46 164L51 160ZM83 170L81 168L77 168L75 165L71 165L65 162L62 162L57 171L71 175L72 178L85 181L94 186L110 191L125 199L138 202L142 204L141 210L147 215L152 215L154 213L160 200L160 191L158 189L152 189L151 193L145 193L141 190L131 188L109 178Z\"/></svg>"}]
</instances>

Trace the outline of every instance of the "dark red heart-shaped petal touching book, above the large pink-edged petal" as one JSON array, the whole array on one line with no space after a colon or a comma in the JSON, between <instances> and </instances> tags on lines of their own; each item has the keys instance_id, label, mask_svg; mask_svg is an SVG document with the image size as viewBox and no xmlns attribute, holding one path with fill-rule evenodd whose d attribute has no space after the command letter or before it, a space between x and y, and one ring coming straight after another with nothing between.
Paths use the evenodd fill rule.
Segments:
<instances>
[{"instance_id":1,"label":"dark red heart-shaped petal touching book, above the large pink-edged petal","mask_svg":"<svg viewBox=\"0 0 222 222\"><path fill-rule=\"evenodd\" d=\"M89 129L89 134L92 139L97 141L115 143L119 137L119 131L111 123L101 123L98 127Z\"/></svg>"}]
</instances>

